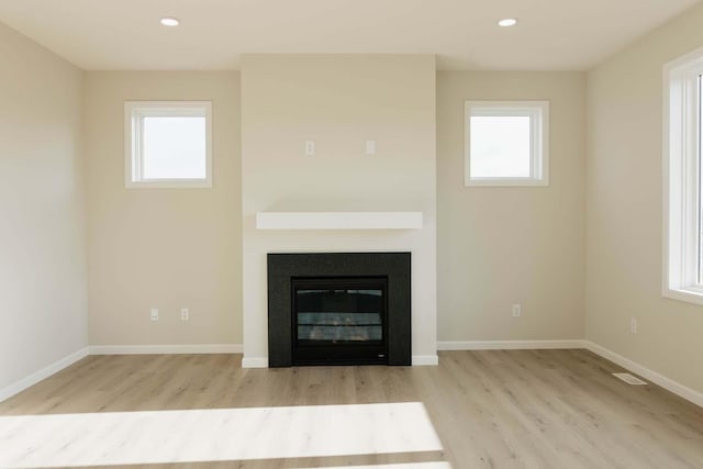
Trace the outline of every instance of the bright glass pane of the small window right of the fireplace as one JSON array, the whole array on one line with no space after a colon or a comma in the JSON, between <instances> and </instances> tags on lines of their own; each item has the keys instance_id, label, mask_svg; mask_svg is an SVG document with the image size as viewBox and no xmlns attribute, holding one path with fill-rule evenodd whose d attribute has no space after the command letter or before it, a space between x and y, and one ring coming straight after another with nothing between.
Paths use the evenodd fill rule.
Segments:
<instances>
[{"instance_id":1,"label":"bright glass pane of the small window right of the fireplace","mask_svg":"<svg viewBox=\"0 0 703 469\"><path fill-rule=\"evenodd\" d=\"M471 116L472 178L531 176L529 116Z\"/></svg>"}]
</instances>

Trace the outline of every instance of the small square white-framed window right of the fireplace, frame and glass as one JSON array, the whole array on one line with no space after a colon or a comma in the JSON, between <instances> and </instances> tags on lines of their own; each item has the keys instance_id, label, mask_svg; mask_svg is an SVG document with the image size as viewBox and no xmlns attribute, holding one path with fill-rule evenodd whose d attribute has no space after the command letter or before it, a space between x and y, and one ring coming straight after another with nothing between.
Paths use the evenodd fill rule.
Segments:
<instances>
[{"instance_id":1,"label":"small square white-framed window right of the fireplace, frame and glass","mask_svg":"<svg viewBox=\"0 0 703 469\"><path fill-rule=\"evenodd\" d=\"M547 186L549 103L467 101L465 186Z\"/></svg>"}]
</instances>

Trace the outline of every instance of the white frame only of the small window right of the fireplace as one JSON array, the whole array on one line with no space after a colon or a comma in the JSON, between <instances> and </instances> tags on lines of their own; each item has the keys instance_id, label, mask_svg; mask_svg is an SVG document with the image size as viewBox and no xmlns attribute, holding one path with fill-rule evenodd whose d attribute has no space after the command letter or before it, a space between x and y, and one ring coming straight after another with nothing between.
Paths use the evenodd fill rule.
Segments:
<instances>
[{"instance_id":1,"label":"white frame only of the small window right of the fireplace","mask_svg":"<svg viewBox=\"0 0 703 469\"><path fill-rule=\"evenodd\" d=\"M471 176L471 116L528 116L531 129L528 177ZM549 186L549 101L466 101L465 186Z\"/></svg>"}]
</instances>

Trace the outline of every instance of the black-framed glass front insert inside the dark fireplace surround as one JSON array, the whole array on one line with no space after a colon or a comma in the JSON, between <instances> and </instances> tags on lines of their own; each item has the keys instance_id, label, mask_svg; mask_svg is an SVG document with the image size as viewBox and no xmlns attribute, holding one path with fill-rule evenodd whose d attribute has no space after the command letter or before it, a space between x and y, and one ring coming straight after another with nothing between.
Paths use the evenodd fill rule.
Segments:
<instances>
[{"instance_id":1,"label":"black-framed glass front insert inside the dark fireplace surround","mask_svg":"<svg viewBox=\"0 0 703 469\"><path fill-rule=\"evenodd\" d=\"M387 278L293 279L293 364L386 364L387 283Z\"/></svg>"}]
</instances>

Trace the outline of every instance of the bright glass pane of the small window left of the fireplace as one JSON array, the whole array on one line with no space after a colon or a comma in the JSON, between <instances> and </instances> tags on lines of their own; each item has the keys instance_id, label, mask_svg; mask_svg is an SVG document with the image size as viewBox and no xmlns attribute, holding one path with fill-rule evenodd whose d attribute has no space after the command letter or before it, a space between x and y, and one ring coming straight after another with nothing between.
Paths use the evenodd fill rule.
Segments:
<instances>
[{"instance_id":1,"label":"bright glass pane of the small window left of the fireplace","mask_svg":"<svg viewBox=\"0 0 703 469\"><path fill-rule=\"evenodd\" d=\"M205 179L205 118L143 118L145 179Z\"/></svg>"}]
</instances>

